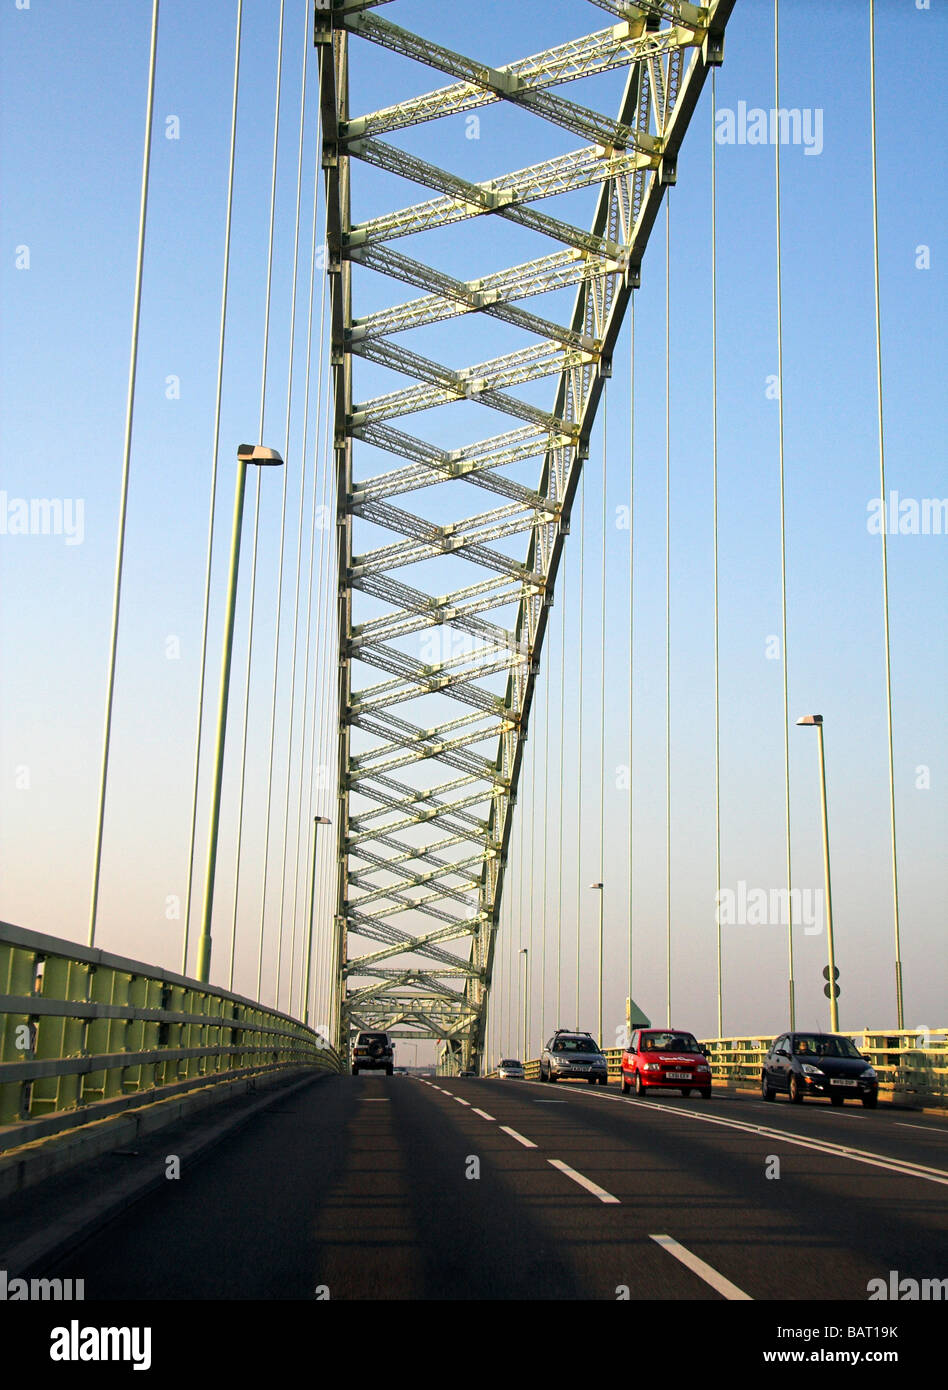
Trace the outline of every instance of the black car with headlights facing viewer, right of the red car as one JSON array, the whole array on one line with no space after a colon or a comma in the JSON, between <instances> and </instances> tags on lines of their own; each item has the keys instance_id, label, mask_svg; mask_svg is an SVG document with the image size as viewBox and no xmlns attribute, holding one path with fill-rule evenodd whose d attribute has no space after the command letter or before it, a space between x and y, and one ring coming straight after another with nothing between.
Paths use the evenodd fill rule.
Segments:
<instances>
[{"instance_id":1,"label":"black car with headlights facing viewer, right of the red car","mask_svg":"<svg viewBox=\"0 0 948 1390\"><path fill-rule=\"evenodd\" d=\"M860 1099L878 1104L878 1077L852 1038L838 1033L783 1033L763 1059L760 1094L773 1101L787 1091L801 1104L808 1095L828 1095L834 1105Z\"/></svg>"}]
</instances>

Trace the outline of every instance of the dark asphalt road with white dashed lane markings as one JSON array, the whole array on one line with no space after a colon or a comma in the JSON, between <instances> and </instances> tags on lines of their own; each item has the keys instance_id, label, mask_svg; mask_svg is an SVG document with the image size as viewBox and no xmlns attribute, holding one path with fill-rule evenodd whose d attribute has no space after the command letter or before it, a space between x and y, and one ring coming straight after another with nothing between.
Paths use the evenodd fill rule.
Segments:
<instances>
[{"instance_id":1,"label":"dark asphalt road with white dashed lane markings","mask_svg":"<svg viewBox=\"0 0 948 1390\"><path fill-rule=\"evenodd\" d=\"M363 1074L275 1101L60 1272L86 1301L865 1301L947 1248L937 1118Z\"/></svg>"}]
</instances>

